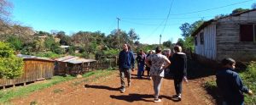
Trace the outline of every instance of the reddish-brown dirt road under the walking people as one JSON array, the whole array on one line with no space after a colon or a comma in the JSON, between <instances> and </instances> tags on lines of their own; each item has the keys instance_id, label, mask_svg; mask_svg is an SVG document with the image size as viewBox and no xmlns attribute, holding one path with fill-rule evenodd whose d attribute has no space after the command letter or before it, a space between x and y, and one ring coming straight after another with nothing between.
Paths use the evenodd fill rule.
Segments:
<instances>
[{"instance_id":1,"label":"reddish-brown dirt road under the walking people","mask_svg":"<svg viewBox=\"0 0 256 105\"><path fill-rule=\"evenodd\" d=\"M131 87L125 93L119 92L119 72L99 80L82 82L82 79L70 80L50 88L33 92L27 97L14 99L13 104L56 104L56 105L206 105L215 104L207 98L207 92L201 88L200 80L183 83L183 98L177 102L172 99L175 94L173 80L164 79L160 90L162 102L153 102L152 80L137 79L137 71L132 72Z\"/></svg>"}]
</instances>

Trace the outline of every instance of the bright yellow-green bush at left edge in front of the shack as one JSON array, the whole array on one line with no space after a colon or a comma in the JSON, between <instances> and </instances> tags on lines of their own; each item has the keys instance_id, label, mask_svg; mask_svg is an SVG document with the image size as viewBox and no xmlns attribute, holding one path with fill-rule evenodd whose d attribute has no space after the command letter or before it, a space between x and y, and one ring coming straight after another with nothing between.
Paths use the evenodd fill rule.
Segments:
<instances>
[{"instance_id":1,"label":"bright yellow-green bush at left edge in front of the shack","mask_svg":"<svg viewBox=\"0 0 256 105\"><path fill-rule=\"evenodd\" d=\"M23 73L23 60L15 56L8 43L0 41L0 78L12 79Z\"/></svg>"}]
</instances>

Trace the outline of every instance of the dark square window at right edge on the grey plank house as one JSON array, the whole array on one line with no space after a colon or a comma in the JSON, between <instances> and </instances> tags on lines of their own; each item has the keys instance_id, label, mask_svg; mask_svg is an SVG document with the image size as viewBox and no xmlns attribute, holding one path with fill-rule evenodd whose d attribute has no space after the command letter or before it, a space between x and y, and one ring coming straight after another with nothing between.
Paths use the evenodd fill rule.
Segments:
<instances>
[{"instance_id":1,"label":"dark square window at right edge on the grey plank house","mask_svg":"<svg viewBox=\"0 0 256 105\"><path fill-rule=\"evenodd\" d=\"M240 41L256 41L256 25L240 25Z\"/></svg>"}]
</instances>

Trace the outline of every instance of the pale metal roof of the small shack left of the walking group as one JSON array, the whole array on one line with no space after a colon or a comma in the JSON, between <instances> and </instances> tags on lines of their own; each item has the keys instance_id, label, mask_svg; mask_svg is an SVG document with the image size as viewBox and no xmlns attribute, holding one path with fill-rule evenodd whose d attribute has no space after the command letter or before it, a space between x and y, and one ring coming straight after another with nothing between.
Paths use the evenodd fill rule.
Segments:
<instances>
[{"instance_id":1,"label":"pale metal roof of the small shack left of the walking group","mask_svg":"<svg viewBox=\"0 0 256 105\"><path fill-rule=\"evenodd\" d=\"M55 60L60 62L70 63L70 64L82 64L82 63L90 63L90 62L96 61L95 59L85 59L85 58L79 58L75 56L66 56L63 58L57 58Z\"/></svg>"}]
</instances>

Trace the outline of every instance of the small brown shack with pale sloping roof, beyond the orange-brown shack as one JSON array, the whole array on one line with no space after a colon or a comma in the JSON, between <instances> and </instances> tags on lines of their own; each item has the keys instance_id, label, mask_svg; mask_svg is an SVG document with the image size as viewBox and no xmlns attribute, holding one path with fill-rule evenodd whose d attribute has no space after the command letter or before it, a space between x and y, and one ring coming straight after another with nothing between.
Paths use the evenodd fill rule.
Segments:
<instances>
[{"instance_id":1,"label":"small brown shack with pale sloping roof, beyond the orange-brown shack","mask_svg":"<svg viewBox=\"0 0 256 105\"><path fill-rule=\"evenodd\" d=\"M96 69L95 59L85 59L75 56L57 58L55 75L81 75Z\"/></svg>"}]
</instances>

